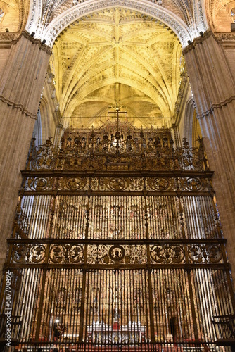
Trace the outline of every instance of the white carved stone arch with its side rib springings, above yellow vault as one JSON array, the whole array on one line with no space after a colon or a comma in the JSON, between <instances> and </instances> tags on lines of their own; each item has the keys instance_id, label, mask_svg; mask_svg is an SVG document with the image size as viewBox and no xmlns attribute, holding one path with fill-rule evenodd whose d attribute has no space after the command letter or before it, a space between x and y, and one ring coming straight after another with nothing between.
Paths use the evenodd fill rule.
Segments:
<instances>
[{"instance_id":1,"label":"white carved stone arch with its side rib springings, above yellow vault","mask_svg":"<svg viewBox=\"0 0 235 352\"><path fill-rule=\"evenodd\" d=\"M149 0L145 2L132 0L101 0L92 2L86 0L73 0L70 3L68 2L68 4L62 4L61 6L63 7L63 15L60 11L58 11L57 14L56 11L53 11L53 8L51 8L51 12L47 11L47 13L44 13L42 5L33 0L27 30L29 32L33 30L37 33L37 37L40 39L46 39L49 45L52 46L58 33L82 15L99 11L103 8L122 6L132 8L135 11L140 11L141 13L146 13L153 16L153 18L162 20L163 23L169 25L172 30L176 32L182 42L182 46L186 46L187 41L195 37L196 34L194 30L192 31L193 26L191 23L191 18L189 18L188 15L191 11L189 5L185 5L187 7L187 11L186 8L184 8L185 6L183 6L184 9L182 9L182 16L184 20L177 18L175 13L171 13L171 9L168 10L168 8L165 8L164 3L161 0ZM181 8L181 6L179 7ZM200 30L205 32L208 25L205 23L205 13L201 0L197 1L197 6L193 8L193 11L195 12L194 18L197 32ZM42 21L42 16L44 17L44 21ZM53 18L52 21L51 18ZM44 25L44 23L46 23L46 25Z\"/></svg>"}]
</instances>

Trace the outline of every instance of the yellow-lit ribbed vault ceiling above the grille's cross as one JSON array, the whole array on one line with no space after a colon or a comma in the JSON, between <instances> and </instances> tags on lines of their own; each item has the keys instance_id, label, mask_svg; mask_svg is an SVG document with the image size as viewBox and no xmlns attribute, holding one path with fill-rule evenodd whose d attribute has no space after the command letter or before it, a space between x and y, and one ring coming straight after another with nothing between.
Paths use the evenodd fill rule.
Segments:
<instances>
[{"instance_id":1,"label":"yellow-lit ribbed vault ceiling above the grille's cross","mask_svg":"<svg viewBox=\"0 0 235 352\"><path fill-rule=\"evenodd\" d=\"M118 104L141 125L162 125L174 114L182 61L174 32L146 15L111 8L80 18L51 56L61 115L89 127Z\"/></svg>"}]
</instances>

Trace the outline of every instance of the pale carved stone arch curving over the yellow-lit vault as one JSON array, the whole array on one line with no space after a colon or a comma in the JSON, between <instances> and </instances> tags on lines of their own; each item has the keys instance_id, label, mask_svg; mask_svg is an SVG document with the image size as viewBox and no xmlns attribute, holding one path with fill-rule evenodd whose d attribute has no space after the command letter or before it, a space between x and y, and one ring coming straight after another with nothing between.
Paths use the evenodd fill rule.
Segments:
<instances>
[{"instance_id":1,"label":"pale carved stone arch curving over the yellow-lit vault","mask_svg":"<svg viewBox=\"0 0 235 352\"><path fill-rule=\"evenodd\" d=\"M49 46L53 45L58 34L65 29L68 25L75 22L84 15L89 15L95 11L100 11L105 8L122 7L129 8L134 11L139 11L146 15L160 20L165 23L168 27L172 29L179 37L182 46L185 47L189 40L193 40L195 37L199 36L199 33L195 29L191 29L184 21L177 15L172 13L172 11L167 10L163 6L159 6L148 0L135 1L135 0L92 0L84 1L76 6L68 8L66 11L54 18L49 25L42 27L42 20L40 19L40 13L42 11L42 6L40 7L41 1L37 5L36 0L32 0L34 10L31 11L31 19L27 23L27 30L29 32L35 32L35 37L46 40L46 44ZM40 10L41 8L41 10ZM203 20L203 18L201 18Z\"/></svg>"}]
</instances>

